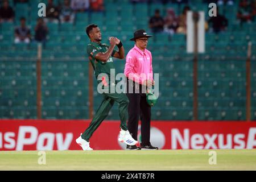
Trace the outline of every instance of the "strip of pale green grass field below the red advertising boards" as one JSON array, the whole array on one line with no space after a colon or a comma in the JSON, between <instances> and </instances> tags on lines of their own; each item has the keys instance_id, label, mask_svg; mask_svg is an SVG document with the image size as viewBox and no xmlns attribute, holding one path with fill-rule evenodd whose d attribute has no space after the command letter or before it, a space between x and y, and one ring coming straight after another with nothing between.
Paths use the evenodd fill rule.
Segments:
<instances>
[{"instance_id":1,"label":"strip of pale green grass field below the red advertising boards","mask_svg":"<svg viewBox=\"0 0 256 182\"><path fill-rule=\"evenodd\" d=\"M0 151L0 170L256 170L256 150L214 150L215 165L209 151L46 151L46 165L38 151Z\"/></svg>"}]
</instances>

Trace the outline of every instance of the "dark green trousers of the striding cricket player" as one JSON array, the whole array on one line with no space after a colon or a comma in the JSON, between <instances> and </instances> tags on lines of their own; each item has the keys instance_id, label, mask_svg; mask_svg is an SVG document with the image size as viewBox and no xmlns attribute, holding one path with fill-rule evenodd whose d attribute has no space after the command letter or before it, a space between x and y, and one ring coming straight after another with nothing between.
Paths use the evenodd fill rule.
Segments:
<instances>
[{"instance_id":1,"label":"dark green trousers of the striding cricket player","mask_svg":"<svg viewBox=\"0 0 256 182\"><path fill-rule=\"evenodd\" d=\"M94 131L101 125L101 122L108 116L110 109L114 105L114 102L119 104L119 118L121 119L120 127L123 130L127 130L127 119L128 119L128 105L129 100L124 93L103 93L104 99L101 102L100 107L96 111L92 122L89 127L82 133L82 139L89 142L90 137Z\"/></svg>"}]
</instances>

